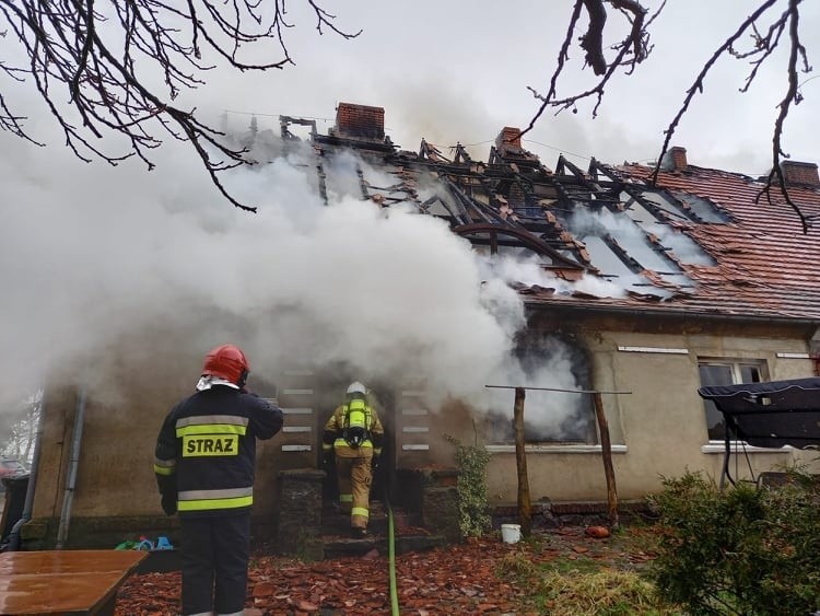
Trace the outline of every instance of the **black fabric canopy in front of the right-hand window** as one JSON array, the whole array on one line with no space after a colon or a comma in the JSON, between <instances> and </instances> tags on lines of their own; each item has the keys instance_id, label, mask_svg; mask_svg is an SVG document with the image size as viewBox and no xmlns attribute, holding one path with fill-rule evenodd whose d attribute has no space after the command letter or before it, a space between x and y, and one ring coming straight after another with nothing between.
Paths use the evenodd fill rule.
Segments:
<instances>
[{"instance_id":1,"label":"black fabric canopy in front of the right-hand window","mask_svg":"<svg viewBox=\"0 0 820 616\"><path fill-rule=\"evenodd\" d=\"M758 448L820 446L820 377L698 390L735 438Z\"/></svg>"}]
</instances>

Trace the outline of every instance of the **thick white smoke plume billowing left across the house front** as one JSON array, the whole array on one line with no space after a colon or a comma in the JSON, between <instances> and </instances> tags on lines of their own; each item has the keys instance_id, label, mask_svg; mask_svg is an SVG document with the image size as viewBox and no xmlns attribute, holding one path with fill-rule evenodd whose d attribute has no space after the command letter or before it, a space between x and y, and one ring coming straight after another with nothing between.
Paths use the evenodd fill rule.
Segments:
<instances>
[{"instance_id":1,"label":"thick white smoke plume billowing left across the house front","mask_svg":"<svg viewBox=\"0 0 820 616\"><path fill-rule=\"evenodd\" d=\"M248 346L257 373L347 361L460 395L483 387L522 324L494 316L469 244L443 222L379 209L339 182L325 207L304 152L235 172L232 189L259 206L248 214L214 195L184 146L166 144L148 173L0 140L7 400L55 364L163 324L196 333L178 340L194 357L225 337ZM503 303L520 311L512 292Z\"/></svg>"}]
</instances>

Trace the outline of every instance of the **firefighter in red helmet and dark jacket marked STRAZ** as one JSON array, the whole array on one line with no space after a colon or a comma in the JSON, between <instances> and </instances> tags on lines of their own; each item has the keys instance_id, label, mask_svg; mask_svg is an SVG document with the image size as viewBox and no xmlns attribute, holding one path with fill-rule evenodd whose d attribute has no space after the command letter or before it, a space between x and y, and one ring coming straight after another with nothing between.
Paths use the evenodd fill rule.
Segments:
<instances>
[{"instance_id":1,"label":"firefighter in red helmet and dark jacket marked STRAZ","mask_svg":"<svg viewBox=\"0 0 820 616\"><path fill-rule=\"evenodd\" d=\"M245 390L248 374L237 347L210 351L196 393L171 409L156 439L162 508L179 513L186 615L244 609L256 440L282 427L282 411Z\"/></svg>"}]
</instances>

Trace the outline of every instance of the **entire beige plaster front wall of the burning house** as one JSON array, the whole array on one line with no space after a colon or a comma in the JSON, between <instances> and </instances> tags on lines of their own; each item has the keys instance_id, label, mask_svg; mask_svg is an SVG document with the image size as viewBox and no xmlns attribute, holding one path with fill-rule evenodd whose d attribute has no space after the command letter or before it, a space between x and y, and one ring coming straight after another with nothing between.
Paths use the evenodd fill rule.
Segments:
<instances>
[{"instance_id":1,"label":"entire beige plaster front wall of the burning house","mask_svg":"<svg viewBox=\"0 0 820 616\"><path fill-rule=\"evenodd\" d=\"M778 356L807 353L810 334L801 330L748 326L708 329L686 324L651 326L643 321L639 329L623 319L573 323L569 318L562 319L561 328L572 330L573 339L585 347L594 388L629 392L602 395L621 500L640 499L657 491L663 477L679 476L687 469L719 478L723 449L707 443L703 402L696 393L699 357L763 359L771 380L815 374L811 360ZM532 326L534 335L557 329L551 319L536 319ZM626 351L625 347L640 350ZM679 349L679 352L652 352L653 349ZM192 391L200 358L167 352L171 355L163 362L141 362L129 353L120 353L120 359L108 363L104 371L99 368L104 376L84 380L87 402L69 545L72 542L93 545L97 539L102 545L109 545L117 538L133 538L134 528L151 533L169 524L173 526L174 522L164 516L160 508L152 472L153 450L166 412ZM262 382L284 377L262 373L256 379ZM292 393L288 394L293 399L288 398L284 387L279 387L279 402L290 409L312 408L309 416L285 415L285 427L307 426L309 431L282 432L259 443L258 448L254 515L261 535L270 532L274 524L278 473L316 466L321 425L338 402L338 383L328 388L318 377L304 381L303 375L300 379L302 381L292 383ZM78 380L66 379L66 382ZM382 386L380 390L385 394L384 419L390 434L389 455L395 467L452 466L455 445L446 435L465 444L482 439L480 416L471 414L464 404L426 408L414 396L418 392L413 387L397 386L388 391ZM294 397L296 391L303 393ZM309 394L304 393L308 391ZM27 531L28 538L35 542L54 538L59 526L78 411L75 387L50 387L45 409L34 520ZM512 410L511 404L511 417ZM304 443L309 443L309 449L304 448ZM488 467L490 502L515 502L514 446L489 449L493 453ZM528 451L534 501L542 498L553 502L606 500L599 446L555 444L530 446ZM733 458L733 474L737 477L751 477L746 457ZM813 472L820 472L816 457L813 452L792 450L751 450L748 455L754 475L799 460L811 464ZM103 525L95 522L99 520L114 521L107 524L107 534L99 531Z\"/></svg>"}]
</instances>

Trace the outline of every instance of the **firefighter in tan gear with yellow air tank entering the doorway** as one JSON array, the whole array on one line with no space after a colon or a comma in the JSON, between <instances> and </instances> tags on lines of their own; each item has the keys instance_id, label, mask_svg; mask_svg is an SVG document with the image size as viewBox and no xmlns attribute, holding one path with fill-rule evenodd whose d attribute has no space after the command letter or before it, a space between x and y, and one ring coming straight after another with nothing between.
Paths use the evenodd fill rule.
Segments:
<instances>
[{"instance_id":1,"label":"firefighter in tan gear with yellow air tank entering the doorway","mask_svg":"<svg viewBox=\"0 0 820 616\"><path fill-rule=\"evenodd\" d=\"M366 394L362 383L351 383L344 404L338 406L327 420L321 438L325 462L336 455L339 504L342 511L350 512L354 537L367 534L373 467L378 465L385 435Z\"/></svg>"}]
</instances>

